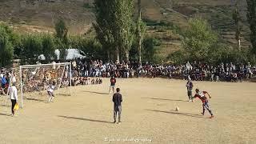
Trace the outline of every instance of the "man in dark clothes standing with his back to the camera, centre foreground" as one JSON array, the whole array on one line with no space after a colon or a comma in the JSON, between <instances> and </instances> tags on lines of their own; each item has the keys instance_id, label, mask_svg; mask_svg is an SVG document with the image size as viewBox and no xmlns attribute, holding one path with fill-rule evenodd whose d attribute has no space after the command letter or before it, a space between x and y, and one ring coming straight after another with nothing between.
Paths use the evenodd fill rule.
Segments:
<instances>
[{"instance_id":1,"label":"man in dark clothes standing with his back to the camera, centre foreground","mask_svg":"<svg viewBox=\"0 0 256 144\"><path fill-rule=\"evenodd\" d=\"M118 123L121 122L121 112L122 112L122 94L120 94L120 89L117 88L117 93L113 95L112 101L114 102L114 122L118 115Z\"/></svg>"}]
</instances>

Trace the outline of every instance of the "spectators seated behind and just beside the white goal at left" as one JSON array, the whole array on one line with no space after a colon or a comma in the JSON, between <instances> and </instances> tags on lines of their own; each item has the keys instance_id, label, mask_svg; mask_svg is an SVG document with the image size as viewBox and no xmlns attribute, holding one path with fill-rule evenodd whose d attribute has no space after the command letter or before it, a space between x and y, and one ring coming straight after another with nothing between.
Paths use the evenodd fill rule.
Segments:
<instances>
[{"instance_id":1,"label":"spectators seated behind and just beside the white goal at left","mask_svg":"<svg viewBox=\"0 0 256 144\"><path fill-rule=\"evenodd\" d=\"M7 94L10 82L16 82L16 75L18 69L0 69L0 95ZM98 85L102 84L102 78L86 78L79 77L73 73L70 81L69 66L65 69L65 75L62 78L62 72L64 67L53 66L44 68L31 68L22 70L22 86L23 92L32 92L34 90L39 91L46 90L50 85L50 82L55 82L60 87L78 86L78 85ZM20 86L20 78L18 74L18 89Z\"/></svg>"}]
</instances>

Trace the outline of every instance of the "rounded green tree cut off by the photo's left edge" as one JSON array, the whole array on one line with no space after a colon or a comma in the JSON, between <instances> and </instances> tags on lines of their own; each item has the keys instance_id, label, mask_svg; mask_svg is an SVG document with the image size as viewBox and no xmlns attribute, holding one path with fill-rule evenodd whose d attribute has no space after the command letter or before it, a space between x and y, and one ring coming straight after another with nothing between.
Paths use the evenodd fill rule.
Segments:
<instances>
[{"instance_id":1,"label":"rounded green tree cut off by the photo's left edge","mask_svg":"<svg viewBox=\"0 0 256 144\"><path fill-rule=\"evenodd\" d=\"M14 47L4 26L0 26L0 65L8 65L14 54Z\"/></svg>"}]
</instances>

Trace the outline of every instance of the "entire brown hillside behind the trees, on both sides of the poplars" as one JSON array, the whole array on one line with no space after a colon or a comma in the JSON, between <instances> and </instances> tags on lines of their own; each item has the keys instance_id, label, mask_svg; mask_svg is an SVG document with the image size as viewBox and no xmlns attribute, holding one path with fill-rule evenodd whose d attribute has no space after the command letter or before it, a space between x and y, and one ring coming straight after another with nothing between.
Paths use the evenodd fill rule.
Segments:
<instances>
[{"instance_id":1,"label":"entire brown hillside behind the trees, on both sides of the poplars","mask_svg":"<svg viewBox=\"0 0 256 144\"><path fill-rule=\"evenodd\" d=\"M234 0L233 0L234 1ZM54 31L54 21L65 18L70 34L84 34L94 22L94 0L0 0L0 21L14 26L20 32ZM134 0L136 2L136 0ZM182 29L187 19L200 15L208 19L222 38L235 45L235 26L232 20L232 0L142 0L142 17L146 22L171 22ZM136 6L136 5L135 5ZM246 0L240 0L242 14L242 46L250 45L249 28L246 22ZM171 52L180 47L178 35L173 30L150 29L163 39L162 49Z\"/></svg>"}]
</instances>

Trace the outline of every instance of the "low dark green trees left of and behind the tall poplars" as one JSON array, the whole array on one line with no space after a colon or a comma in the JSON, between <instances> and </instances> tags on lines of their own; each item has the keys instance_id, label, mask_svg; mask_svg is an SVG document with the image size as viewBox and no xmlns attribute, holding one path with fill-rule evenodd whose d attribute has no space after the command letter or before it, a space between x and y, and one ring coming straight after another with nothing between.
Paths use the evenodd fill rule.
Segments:
<instances>
[{"instance_id":1,"label":"low dark green trees left of and behind the tall poplars","mask_svg":"<svg viewBox=\"0 0 256 144\"><path fill-rule=\"evenodd\" d=\"M146 61L153 61L160 40L147 37L143 42L142 57ZM130 46L130 59L137 60L136 43ZM52 33L30 33L19 34L14 32L10 26L0 24L0 66L8 66L13 59L21 59L22 63L33 64L40 60L41 55L46 62L53 60L66 61L67 50L76 49L88 60L101 59L103 61L113 60L108 57L106 46L94 37L81 35L68 35L66 22L59 18L55 23L55 32ZM56 53L59 51L59 54Z\"/></svg>"}]
</instances>

